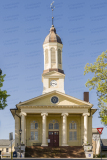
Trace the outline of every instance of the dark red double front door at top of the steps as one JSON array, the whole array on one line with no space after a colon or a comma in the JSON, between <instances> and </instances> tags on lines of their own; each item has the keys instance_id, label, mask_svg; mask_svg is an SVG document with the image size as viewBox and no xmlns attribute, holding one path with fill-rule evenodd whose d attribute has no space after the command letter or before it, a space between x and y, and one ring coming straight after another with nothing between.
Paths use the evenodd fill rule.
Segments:
<instances>
[{"instance_id":1,"label":"dark red double front door at top of the steps","mask_svg":"<svg viewBox=\"0 0 107 160\"><path fill-rule=\"evenodd\" d=\"M49 131L50 143L48 146L58 147L59 146L59 131Z\"/></svg>"}]
</instances>

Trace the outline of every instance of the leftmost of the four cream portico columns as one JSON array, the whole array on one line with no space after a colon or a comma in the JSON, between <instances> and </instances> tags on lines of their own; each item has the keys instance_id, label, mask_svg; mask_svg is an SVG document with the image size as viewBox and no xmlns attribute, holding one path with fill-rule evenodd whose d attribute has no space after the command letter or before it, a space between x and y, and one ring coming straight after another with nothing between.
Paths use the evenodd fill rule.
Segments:
<instances>
[{"instance_id":1,"label":"leftmost of the four cream portico columns","mask_svg":"<svg viewBox=\"0 0 107 160\"><path fill-rule=\"evenodd\" d=\"M26 143L26 122L25 122L25 116L26 113L21 112L21 129L22 129L22 133L21 133L21 143L23 142L23 144Z\"/></svg>"}]
</instances>

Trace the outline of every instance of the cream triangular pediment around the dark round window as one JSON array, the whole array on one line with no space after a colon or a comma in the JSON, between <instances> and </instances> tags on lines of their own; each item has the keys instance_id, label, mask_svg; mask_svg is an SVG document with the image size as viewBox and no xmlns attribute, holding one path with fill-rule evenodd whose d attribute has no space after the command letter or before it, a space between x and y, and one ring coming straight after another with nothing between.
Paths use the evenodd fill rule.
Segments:
<instances>
[{"instance_id":1,"label":"cream triangular pediment around the dark round window","mask_svg":"<svg viewBox=\"0 0 107 160\"><path fill-rule=\"evenodd\" d=\"M54 104L51 102L52 97L58 97L58 103ZM68 96L64 93L58 92L58 91L52 91L46 94L43 94L41 96L35 97L33 99L21 102L17 104L17 106L87 106L92 107L93 105L91 103L79 100L77 98L74 98L72 96Z\"/></svg>"}]
</instances>

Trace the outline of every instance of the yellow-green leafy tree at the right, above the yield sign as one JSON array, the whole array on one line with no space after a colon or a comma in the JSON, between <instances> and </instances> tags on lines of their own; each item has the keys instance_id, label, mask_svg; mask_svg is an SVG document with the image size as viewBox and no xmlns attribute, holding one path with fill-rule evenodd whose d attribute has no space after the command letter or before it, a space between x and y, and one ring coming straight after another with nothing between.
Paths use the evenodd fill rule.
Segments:
<instances>
[{"instance_id":1,"label":"yellow-green leafy tree at the right, above the yield sign","mask_svg":"<svg viewBox=\"0 0 107 160\"><path fill-rule=\"evenodd\" d=\"M85 85L89 90L96 89L101 122L107 126L107 50L98 56L94 64L87 63L84 69L84 75L94 73Z\"/></svg>"}]
</instances>

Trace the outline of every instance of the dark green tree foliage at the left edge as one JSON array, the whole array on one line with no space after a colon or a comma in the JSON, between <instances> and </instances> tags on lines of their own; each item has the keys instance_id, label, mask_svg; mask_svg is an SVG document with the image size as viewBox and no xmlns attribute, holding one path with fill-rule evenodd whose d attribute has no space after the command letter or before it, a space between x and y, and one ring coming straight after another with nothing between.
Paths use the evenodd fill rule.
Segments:
<instances>
[{"instance_id":1,"label":"dark green tree foliage at the left edge","mask_svg":"<svg viewBox=\"0 0 107 160\"><path fill-rule=\"evenodd\" d=\"M10 96L7 94L6 90L1 90L1 87L3 87L4 77L6 74L2 75L2 71L0 69L0 110L4 109L7 106L7 97Z\"/></svg>"}]
</instances>

